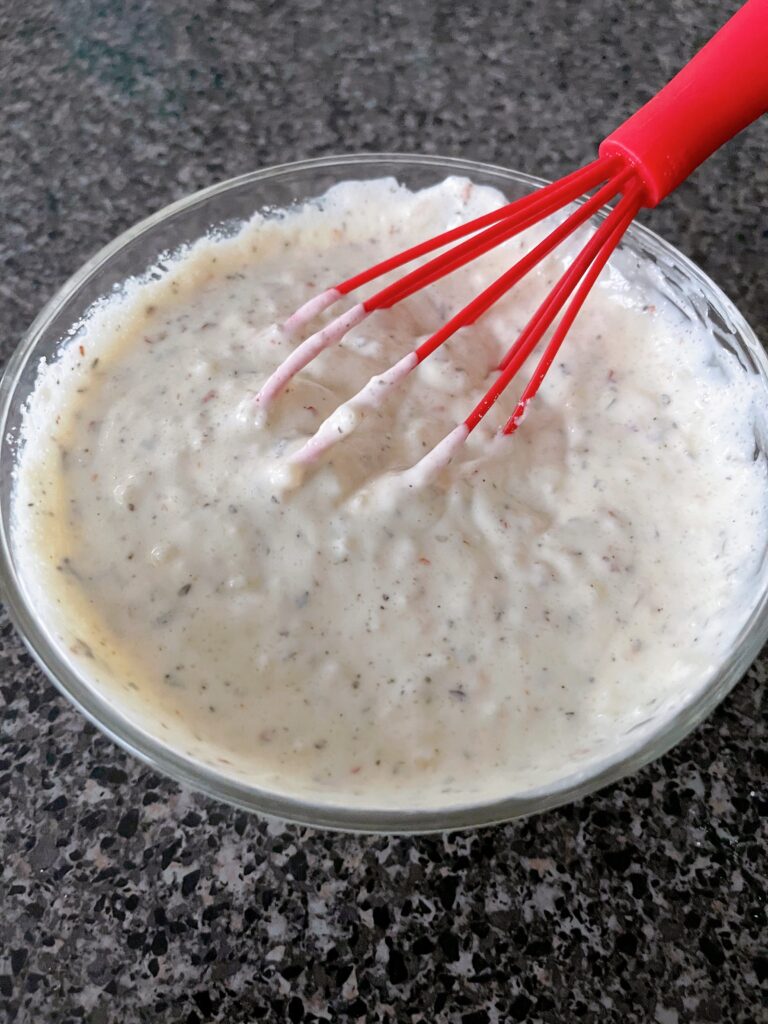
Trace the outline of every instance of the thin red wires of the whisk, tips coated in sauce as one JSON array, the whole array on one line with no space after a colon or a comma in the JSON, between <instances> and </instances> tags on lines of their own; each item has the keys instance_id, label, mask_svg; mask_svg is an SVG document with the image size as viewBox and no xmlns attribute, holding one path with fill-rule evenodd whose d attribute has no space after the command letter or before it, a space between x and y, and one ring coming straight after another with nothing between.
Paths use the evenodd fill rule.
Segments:
<instances>
[{"instance_id":1,"label":"thin red wires of the whisk, tips coated in sauce","mask_svg":"<svg viewBox=\"0 0 768 1024\"><path fill-rule=\"evenodd\" d=\"M584 199L562 223L554 227L538 245L452 316L439 330L389 370L373 377L357 394L332 413L314 435L290 457L291 464L297 469L305 467L316 461L331 445L342 440L354 428L360 412L379 406L390 391L444 341L462 328L474 324L525 273L602 207L621 196L506 352L499 365L498 376L485 394L466 419L410 471L408 481L412 485L424 482L453 459L457 450L490 407L498 401L559 316L530 379L502 428L505 434L513 433L522 421L528 403L541 387L592 286L643 205L643 184L634 167L621 156L599 157L559 181L545 185L538 191L498 210L413 246L314 296L285 322L284 329L287 332L294 336L298 335L319 313L355 289L414 260L428 256L437 249L445 250L376 292L364 302L353 305L302 341L271 374L256 397L257 406L264 413L297 373L325 349L340 342L348 331L375 310L388 309L401 302L432 282L457 270L589 193L592 195Z\"/></svg>"}]
</instances>

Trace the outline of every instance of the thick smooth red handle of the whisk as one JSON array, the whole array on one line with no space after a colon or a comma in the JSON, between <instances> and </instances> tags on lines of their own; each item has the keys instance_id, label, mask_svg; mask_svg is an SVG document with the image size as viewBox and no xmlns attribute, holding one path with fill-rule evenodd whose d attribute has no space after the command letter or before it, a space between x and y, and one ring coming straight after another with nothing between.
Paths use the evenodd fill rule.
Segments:
<instances>
[{"instance_id":1,"label":"thick smooth red handle of the whisk","mask_svg":"<svg viewBox=\"0 0 768 1024\"><path fill-rule=\"evenodd\" d=\"M600 144L622 156L656 206L768 111L768 0L748 0L683 70Z\"/></svg>"}]
</instances>

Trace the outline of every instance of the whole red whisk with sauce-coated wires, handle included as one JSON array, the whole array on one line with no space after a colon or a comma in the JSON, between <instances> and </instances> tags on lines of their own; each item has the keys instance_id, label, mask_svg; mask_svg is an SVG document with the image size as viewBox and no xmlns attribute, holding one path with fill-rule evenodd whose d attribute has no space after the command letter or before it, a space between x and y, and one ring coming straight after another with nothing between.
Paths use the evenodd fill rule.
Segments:
<instances>
[{"instance_id":1,"label":"whole red whisk with sauce-coated wires, handle included","mask_svg":"<svg viewBox=\"0 0 768 1024\"><path fill-rule=\"evenodd\" d=\"M386 309L500 243L593 191L542 242L480 295L385 373L374 377L341 411L332 414L291 462L313 461L347 432L357 409L378 404L386 393L447 338L482 315L529 269L606 204L607 213L506 353L499 375L463 423L422 460L422 474L446 464L501 396L544 334L557 323L534 375L503 432L512 433L536 395L555 355L611 252L642 207L656 206L719 146L768 110L768 0L749 0L693 59L610 134L599 157L581 170L485 216L445 231L343 281L310 299L285 324L296 333L342 296L371 281L459 243L388 285L307 338L269 377L257 396L265 410L291 379L324 349L377 309ZM471 236L470 238L466 238ZM466 239L460 242L459 240ZM347 426L341 423L346 418ZM422 465L420 464L420 465Z\"/></svg>"}]
</instances>

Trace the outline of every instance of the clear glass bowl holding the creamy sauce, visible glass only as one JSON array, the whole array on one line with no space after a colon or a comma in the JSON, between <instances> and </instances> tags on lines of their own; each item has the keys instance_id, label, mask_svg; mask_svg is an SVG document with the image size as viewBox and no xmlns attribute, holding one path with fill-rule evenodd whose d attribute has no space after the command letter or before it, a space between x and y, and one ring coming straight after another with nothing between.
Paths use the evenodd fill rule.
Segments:
<instances>
[{"instance_id":1,"label":"clear glass bowl holding the creamy sauce, visible glass only","mask_svg":"<svg viewBox=\"0 0 768 1024\"><path fill-rule=\"evenodd\" d=\"M48 302L11 357L0 384L0 582L3 599L25 643L54 685L103 733L153 768L209 796L249 811L305 824L358 831L424 833L476 826L532 814L574 800L613 782L664 754L723 699L746 671L768 636L768 571L763 558L755 605L727 656L693 697L641 736L628 734L626 746L588 770L564 775L554 784L502 800L434 810L345 807L292 799L227 777L164 743L131 722L121 709L89 685L58 649L20 583L10 536L13 469L24 404L41 357L54 356L74 324L99 298L127 278L141 274L169 252L194 242L211 228L228 228L257 210L285 208L322 195L347 178L392 175L411 188L434 184L449 174L463 174L492 185L510 199L545 182L517 171L467 160L432 156L360 155L324 157L245 174L197 193L136 224L96 253ZM693 263L652 231L633 226L623 249L652 261L664 292L683 313L705 323L737 357L743 372L758 377L768 407L768 361L757 338L720 289ZM757 438L765 449L762 437Z\"/></svg>"}]
</instances>

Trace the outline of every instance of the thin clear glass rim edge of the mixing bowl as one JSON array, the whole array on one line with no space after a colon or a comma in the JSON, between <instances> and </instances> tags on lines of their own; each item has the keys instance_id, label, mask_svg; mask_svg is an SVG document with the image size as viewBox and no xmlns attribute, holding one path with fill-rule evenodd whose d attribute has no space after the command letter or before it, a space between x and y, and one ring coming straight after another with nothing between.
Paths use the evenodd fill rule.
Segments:
<instances>
[{"instance_id":1,"label":"thin clear glass rim edge of the mixing bowl","mask_svg":"<svg viewBox=\"0 0 768 1024\"><path fill-rule=\"evenodd\" d=\"M94 253L45 303L11 354L0 381L0 436L5 438L8 416L22 373L34 355L37 341L59 309L100 267L139 236L152 231L181 211L202 206L222 193L273 177L288 177L302 171L393 165L440 169L444 173L494 175L527 188L548 183L546 178L496 164L432 154L361 153L324 156L261 168L210 185L177 200L139 220ZM382 171L386 172L382 167ZM308 197L307 197L308 198ZM630 239L641 240L651 253L664 255L677 264L738 333L762 376L768 381L768 358L754 331L733 302L695 263L676 247L644 225L633 223ZM733 641L728 657L707 685L663 720L659 728L629 744L621 754L592 765L589 771L571 772L554 783L524 791L513 797L480 800L436 809L370 808L345 806L286 796L230 778L209 765L165 745L157 736L129 721L116 707L91 689L58 654L38 620L32 602L25 596L11 555L11 524L0 515L0 597L30 653L62 693L100 732L155 771L189 785L206 796L234 807L297 824L348 833L426 834L495 824L560 806L588 796L660 757L686 736L726 696L755 659L768 638L768 586Z\"/></svg>"}]
</instances>

